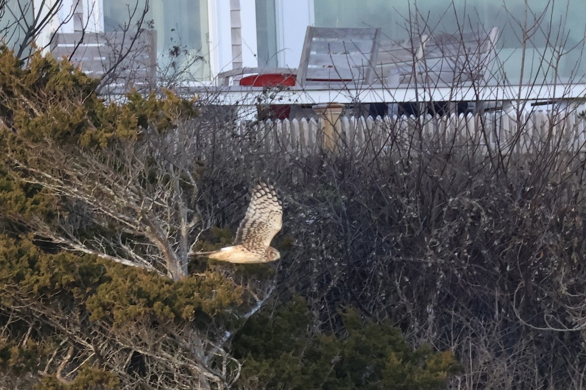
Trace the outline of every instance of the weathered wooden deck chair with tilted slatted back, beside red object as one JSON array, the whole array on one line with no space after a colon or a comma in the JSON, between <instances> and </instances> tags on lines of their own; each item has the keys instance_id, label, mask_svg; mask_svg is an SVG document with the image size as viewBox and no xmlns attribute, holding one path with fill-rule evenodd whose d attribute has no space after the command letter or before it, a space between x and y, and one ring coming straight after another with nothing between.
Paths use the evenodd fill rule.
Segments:
<instances>
[{"instance_id":1,"label":"weathered wooden deck chair with tilted slatted back, beside red object","mask_svg":"<svg viewBox=\"0 0 586 390\"><path fill-rule=\"evenodd\" d=\"M240 68L218 75L221 85L230 85L246 74L295 75L296 87L372 81L373 64L379 50L380 28L335 28L308 26L297 69Z\"/></svg>"}]
</instances>

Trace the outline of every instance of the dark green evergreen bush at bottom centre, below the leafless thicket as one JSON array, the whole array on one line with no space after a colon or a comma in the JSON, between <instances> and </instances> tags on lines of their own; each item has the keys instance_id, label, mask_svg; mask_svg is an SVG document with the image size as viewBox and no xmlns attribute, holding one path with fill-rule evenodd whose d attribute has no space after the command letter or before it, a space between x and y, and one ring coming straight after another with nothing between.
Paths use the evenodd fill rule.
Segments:
<instances>
[{"instance_id":1,"label":"dark green evergreen bush at bottom centre, below the leafless thicket","mask_svg":"<svg viewBox=\"0 0 586 390\"><path fill-rule=\"evenodd\" d=\"M341 317L339 334L311 332L306 302L294 298L249 320L234 340L242 388L441 389L459 370L453 354L413 349L387 322L363 323L353 308Z\"/></svg>"}]
</instances>

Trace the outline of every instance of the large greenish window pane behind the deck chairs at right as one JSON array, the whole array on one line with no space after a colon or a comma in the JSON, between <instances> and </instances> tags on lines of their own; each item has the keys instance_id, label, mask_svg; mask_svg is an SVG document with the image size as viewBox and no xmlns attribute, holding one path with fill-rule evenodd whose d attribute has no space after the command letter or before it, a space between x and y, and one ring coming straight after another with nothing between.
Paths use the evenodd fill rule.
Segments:
<instances>
[{"instance_id":1,"label":"large greenish window pane behind the deck chairs at right","mask_svg":"<svg viewBox=\"0 0 586 390\"><path fill-rule=\"evenodd\" d=\"M490 82L585 82L584 5L551 0L315 0L315 25L381 27L383 39L499 27ZM528 4L528 5L526 5ZM525 34L523 32L526 32ZM522 66L523 64L523 66ZM501 66L502 65L502 66Z\"/></svg>"}]
</instances>

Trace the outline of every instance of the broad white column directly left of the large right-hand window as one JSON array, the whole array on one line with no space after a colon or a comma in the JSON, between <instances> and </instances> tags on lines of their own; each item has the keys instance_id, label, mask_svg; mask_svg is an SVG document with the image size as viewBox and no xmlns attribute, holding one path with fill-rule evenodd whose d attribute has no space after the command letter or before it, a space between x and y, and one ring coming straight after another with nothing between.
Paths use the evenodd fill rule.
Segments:
<instances>
[{"instance_id":1,"label":"broad white column directly left of the large right-hand window","mask_svg":"<svg viewBox=\"0 0 586 390\"><path fill-rule=\"evenodd\" d=\"M305 30L315 24L314 0L275 0L277 61L281 68L297 68Z\"/></svg>"}]
</instances>

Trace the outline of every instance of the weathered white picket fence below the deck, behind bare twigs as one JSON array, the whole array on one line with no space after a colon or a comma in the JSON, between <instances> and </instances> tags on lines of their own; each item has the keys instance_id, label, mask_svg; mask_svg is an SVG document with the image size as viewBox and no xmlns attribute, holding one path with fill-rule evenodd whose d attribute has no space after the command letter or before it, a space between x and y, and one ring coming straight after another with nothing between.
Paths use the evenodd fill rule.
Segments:
<instances>
[{"instance_id":1,"label":"weathered white picket fence below the deck, behind bare twigs","mask_svg":"<svg viewBox=\"0 0 586 390\"><path fill-rule=\"evenodd\" d=\"M386 154L430 147L471 147L484 154L560 150L586 152L586 122L577 113L533 112L517 116L502 112L482 115L342 117L333 126L333 143L325 141L323 119L241 122L237 136L267 153L297 156L329 151ZM332 148L333 145L333 148Z\"/></svg>"}]
</instances>

